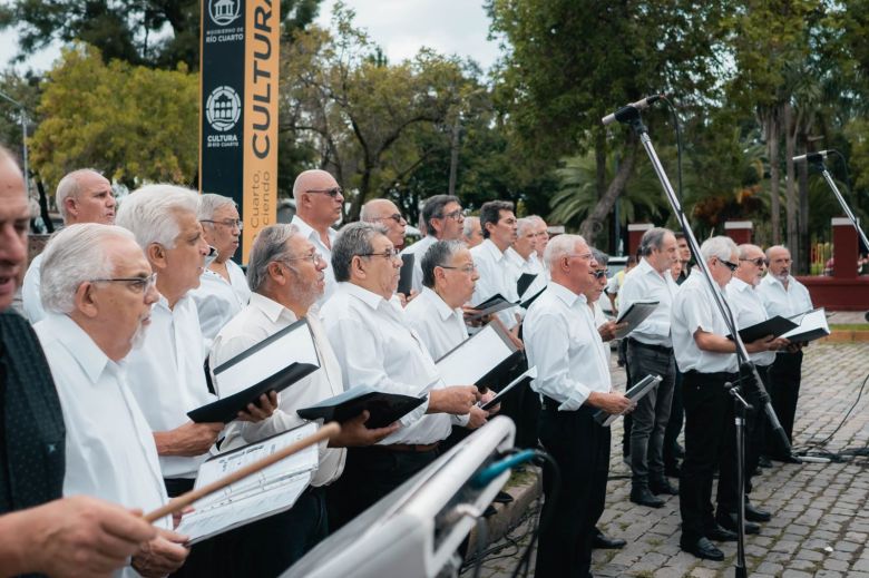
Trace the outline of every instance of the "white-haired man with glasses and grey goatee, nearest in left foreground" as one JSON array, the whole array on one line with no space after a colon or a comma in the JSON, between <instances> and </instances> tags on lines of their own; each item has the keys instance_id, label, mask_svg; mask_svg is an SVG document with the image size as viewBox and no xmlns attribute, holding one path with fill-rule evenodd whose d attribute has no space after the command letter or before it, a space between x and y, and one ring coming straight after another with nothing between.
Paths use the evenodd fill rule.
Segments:
<instances>
[{"instance_id":1,"label":"white-haired man with glasses and grey goatee, nearest in left foreground","mask_svg":"<svg viewBox=\"0 0 869 578\"><path fill-rule=\"evenodd\" d=\"M154 437L121 363L141 343L158 297L150 265L128 231L98 224L66 227L43 255L47 313L35 329L67 429L64 493L155 510L168 497ZM184 564L187 538L172 531L172 518L158 528L124 576L164 576Z\"/></svg>"}]
</instances>

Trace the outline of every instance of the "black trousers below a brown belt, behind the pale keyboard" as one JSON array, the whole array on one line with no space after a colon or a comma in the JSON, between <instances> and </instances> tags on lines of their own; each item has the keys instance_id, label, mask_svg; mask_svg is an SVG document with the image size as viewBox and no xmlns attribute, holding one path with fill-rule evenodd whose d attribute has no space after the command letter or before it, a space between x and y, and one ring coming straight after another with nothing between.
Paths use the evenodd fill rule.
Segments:
<instances>
[{"instance_id":1,"label":"black trousers below a brown belt, behind the pale keyboard","mask_svg":"<svg viewBox=\"0 0 869 578\"><path fill-rule=\"evenodd\" d=\"M329 529L335 531L438 459L426 452L388 450L383 445L348 448L344 472L326 490Z\"/></svg>"}]
</instances>

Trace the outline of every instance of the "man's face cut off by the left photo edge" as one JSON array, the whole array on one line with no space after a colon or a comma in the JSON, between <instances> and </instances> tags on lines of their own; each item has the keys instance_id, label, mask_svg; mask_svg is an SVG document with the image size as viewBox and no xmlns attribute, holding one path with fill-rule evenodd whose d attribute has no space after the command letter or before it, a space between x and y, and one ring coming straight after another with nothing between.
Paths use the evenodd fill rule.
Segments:
<instances>
[{"instance_id":1,"label":"man's face cut off by the left photo edge","mask_svg":"<svg viewBox=\"0 0 869 578\"><path fill-rule=\"evenodd\" d=\"M27 262L27 190L12 155L0 147L0 311L12 304Z\"/></svg>"}]
</instances>

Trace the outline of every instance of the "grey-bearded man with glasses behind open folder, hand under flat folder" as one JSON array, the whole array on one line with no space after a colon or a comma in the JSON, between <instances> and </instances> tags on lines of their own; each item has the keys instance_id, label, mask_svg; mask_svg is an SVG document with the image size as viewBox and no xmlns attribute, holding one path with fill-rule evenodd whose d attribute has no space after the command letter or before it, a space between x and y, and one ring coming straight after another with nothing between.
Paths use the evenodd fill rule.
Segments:
<instances>
[{"instance_id":1,"label":"grey-bearded man with glasses behind open folder, hand under flat folder","mask_svg":"<svg viewBox=\"0 0 869 578\"><path fill-rule=\"evenodd\" d=\"M248 406L257 421L235 421L226 430L221 447L232 449L254 443L304 423L296 410L319 403L344 391L338 362L320 322L316 300L325 288L325 262L313 243L294 225L271 225L251 248L247 278L251 303L217 334L211 353L217 366L300 319L307 320L321 366L280 394ZM290 352L292 356L292 352ZM241 556L238 575L276 576L328 533L325 490L341 476L349 445L370 445L398 429L391 425L367 429L364 413L343 424L341 434L320 447L320 464L311 486L286 512L254 522L232 532L232 548L240 552L267 551L268 556Z\"/></svg>"}]
</instances>

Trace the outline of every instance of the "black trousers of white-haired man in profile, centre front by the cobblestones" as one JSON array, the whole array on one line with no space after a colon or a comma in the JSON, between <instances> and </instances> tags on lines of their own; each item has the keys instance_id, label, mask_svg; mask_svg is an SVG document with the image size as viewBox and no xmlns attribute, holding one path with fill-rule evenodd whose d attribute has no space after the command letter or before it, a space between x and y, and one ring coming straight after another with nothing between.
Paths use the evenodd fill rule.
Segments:
<instances>
[{"instance_id":1,"label":"black trousers of white-haired man in profile, centre front by the cobblestones","mask_svg":"<svg viewBox=\"0 0 869 578\"><path fill-rule=\"evenodd\" d=\"M558 464L560 494L551 499L554 471L544 466L546 501L537 546L537 578L587 578L595 526L604 512L609 473L609 428L592 408L558 411L550 400L540 412L540 442ZM548 521L548 523L547 523Z\"/></svg>"}]
</instances>

